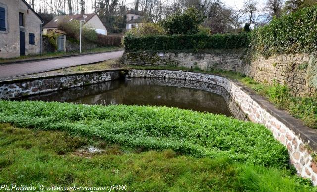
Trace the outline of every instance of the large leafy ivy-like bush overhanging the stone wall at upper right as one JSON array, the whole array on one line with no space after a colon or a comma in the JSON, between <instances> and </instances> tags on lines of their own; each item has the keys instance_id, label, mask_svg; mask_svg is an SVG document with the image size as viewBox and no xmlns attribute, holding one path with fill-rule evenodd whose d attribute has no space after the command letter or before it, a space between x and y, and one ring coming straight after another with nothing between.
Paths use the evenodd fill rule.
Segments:
<instances>
[{"instance_id":1,"label":"large leafy ivy-like bush overhanging the stone wall at upper right","mask_svg":"<svg viewBox=\"0 0 317 192\"><path fill-rule=\"evenodd\" d=\"M252 32L251 50L264 56L317 49L317 6L300 9Z\"/></svg>"}]
</instances>

